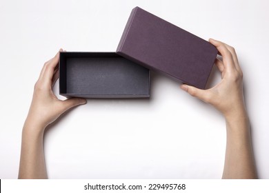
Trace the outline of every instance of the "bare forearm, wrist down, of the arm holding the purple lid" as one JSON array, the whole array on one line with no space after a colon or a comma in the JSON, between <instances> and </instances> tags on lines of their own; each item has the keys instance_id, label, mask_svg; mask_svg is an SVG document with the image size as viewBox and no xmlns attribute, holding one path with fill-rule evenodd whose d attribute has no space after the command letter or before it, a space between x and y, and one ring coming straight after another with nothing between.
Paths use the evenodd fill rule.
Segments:
<instances>
[{"instance_id":1,"label":"bare forearm, wrist down, of the arm holding the purple lid","mask_svg":"<svg viewBox=\"0 0 269 193\"><path fill-rule=\"evenodd\" d=\"M223 179L256 179L250 122L244 108L226 116L227 144Z\"/></svg>"}]
</instances>

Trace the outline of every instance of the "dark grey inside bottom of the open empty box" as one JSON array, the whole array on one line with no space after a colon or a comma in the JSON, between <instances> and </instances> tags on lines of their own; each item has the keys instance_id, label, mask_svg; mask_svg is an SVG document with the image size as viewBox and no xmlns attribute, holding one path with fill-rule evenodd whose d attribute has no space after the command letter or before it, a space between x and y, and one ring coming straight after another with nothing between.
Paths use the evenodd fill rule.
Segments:
<instances>
[{"instance_id":1,"label":"dark grey inside bottom of the open empty box","mask_svg":"<svg viewBox=\"0 0 269 193\"><path fill-rule=\"evenodd\" d=\"M148 70L123 57L66 58L67 94L145 94Z\"/></svg>"}]
</instances>

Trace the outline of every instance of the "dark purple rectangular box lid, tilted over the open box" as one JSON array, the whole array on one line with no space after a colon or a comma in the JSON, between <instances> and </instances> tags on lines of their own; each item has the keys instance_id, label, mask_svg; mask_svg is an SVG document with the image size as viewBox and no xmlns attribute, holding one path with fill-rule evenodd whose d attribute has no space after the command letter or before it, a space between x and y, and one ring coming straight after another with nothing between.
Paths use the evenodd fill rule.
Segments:
<instances>
[{"instance_id":1,"label":"dark purple rectangular box lid, tilted over the open box","mask_svg":"<svg viewBox=\"0 0 269 193\"><path fill-rule=\"evenodd\" d=\"M123 31L117 54L204 89L217 49L208 41L136 7Z\"/></svg>"}]
</instances>

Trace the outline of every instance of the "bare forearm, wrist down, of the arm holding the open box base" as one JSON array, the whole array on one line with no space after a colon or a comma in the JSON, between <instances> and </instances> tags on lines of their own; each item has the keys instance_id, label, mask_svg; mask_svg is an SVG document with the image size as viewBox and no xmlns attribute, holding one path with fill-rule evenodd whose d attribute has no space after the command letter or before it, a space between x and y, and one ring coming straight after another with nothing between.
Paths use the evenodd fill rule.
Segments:
<instances>
[{"instance_id":1,"label":"bare forearm, wrist down, of the arm holding the open box base","mask_svg":"<svg viewBox=\"0 0 269 193\"><path fill-rule=\"evenodd\" d=\"M44 128L26 120L21 140L19 179L47 179L43 153Z\"/></svg>"}]
</instances>

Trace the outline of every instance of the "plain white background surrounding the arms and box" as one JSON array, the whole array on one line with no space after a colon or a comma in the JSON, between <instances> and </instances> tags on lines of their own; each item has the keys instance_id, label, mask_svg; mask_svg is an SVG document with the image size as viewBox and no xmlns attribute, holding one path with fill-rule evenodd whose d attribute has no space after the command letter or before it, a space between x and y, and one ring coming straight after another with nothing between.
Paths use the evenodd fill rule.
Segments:
<instances>
[{"instance_id":1,"label":"plain white background surrounding the arms and box","mask_svg":"<svg viewBox=\"0 0 269 193\"><path fill-rule=\"evenodd\" d=\"M135 6L236 48L259 178L269 178L268 1L1 0L1 179L17 178L21 129L43 63L59 48L116 50ZM49 178L221 178L223 116L180 83L155 72L151 79L150 99L88 99L52 125L44 141ZM214 69L209 84L219 79Z\"/></svg>"}]
</instances>

